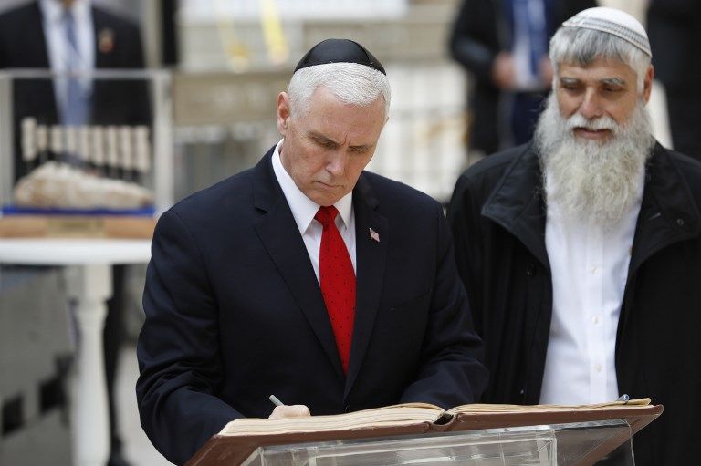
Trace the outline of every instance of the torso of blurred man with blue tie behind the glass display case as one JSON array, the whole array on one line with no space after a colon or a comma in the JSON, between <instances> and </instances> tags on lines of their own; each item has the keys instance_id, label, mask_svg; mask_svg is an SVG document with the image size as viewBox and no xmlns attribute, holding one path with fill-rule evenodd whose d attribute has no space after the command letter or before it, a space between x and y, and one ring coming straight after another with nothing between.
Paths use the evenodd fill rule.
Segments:
<instances>
[{"instance_id":1,"label":"torso of blurred man with blue tie behind the glass display case","mask_svg":"<svg viewBox=\"0 0 701 466\"><path fill-rule=\"evenodd\" d=\"M100 69L143 67L139 26L89 0L39 0L0 15L0 68L76 73L53 80L17 79L17 128L25 117L44 125L149 124L148 93L141 82L86 78ZM15 178L25 174L26 164L16 150Z\"/></svg>"}]
</instances>

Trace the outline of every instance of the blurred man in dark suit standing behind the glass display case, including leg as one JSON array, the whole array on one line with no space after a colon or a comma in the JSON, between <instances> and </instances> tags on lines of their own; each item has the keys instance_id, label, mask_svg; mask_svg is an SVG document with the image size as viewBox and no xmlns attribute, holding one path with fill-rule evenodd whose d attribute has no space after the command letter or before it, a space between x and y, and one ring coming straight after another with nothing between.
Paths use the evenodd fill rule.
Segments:
<instances>
[{"instance_id":1,"label":"blurred man in dark suit standing behind the glass display case, including leg","mask_svg":"<svg viewBox=\"0 0 701 466\"><path fill-rule=\"evenodd\" d=\"M37 68L68 71L68 43L62 29L63 15L72 14L78 52L83 52L79 70L144 66L139 27L115 16L88 0L40 0L18 6L0 15L0 68ZM51 42L52 39L60 39ZM63 46L63 47L62 47ZM82 121L68 118L66 89L59 80L22 78L14 82L13 109L15 126L15 177L26 174L26 164L19 150L20 123L25 117L39 124L147 124L150 107L147 89L135 80L94 80L84 83L83 98L87 112ZM105 322L105 372L110 403L110 465L127 464L121 455L117 432L117 412L114 404L114 379L117 372L120 345L124 340L123 290L124 266L113 271L113 297L108 302ZM79 402L76 400L76 402Z\"/></svg>"}]
</instances>

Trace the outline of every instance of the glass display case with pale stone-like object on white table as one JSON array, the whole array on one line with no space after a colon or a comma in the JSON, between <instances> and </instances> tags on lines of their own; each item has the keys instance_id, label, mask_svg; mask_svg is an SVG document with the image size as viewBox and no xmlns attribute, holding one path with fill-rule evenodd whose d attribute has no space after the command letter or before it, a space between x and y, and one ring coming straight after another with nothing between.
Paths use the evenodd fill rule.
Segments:
<instances>
[{"instance_id":1,"label":"glass display case with pale stone-like object on white table","mask_svg":"<svg viewBox=\"0 0 701 466\"><path fill-rule=\"evenodd\" d=\"M84 96L78 122L69 118L71 86ZM3 220L79 216L68 231L91 235L110 218L152 219L173 203L171 107L166 71L1 72Z\"/></svg>"}]
</instances>

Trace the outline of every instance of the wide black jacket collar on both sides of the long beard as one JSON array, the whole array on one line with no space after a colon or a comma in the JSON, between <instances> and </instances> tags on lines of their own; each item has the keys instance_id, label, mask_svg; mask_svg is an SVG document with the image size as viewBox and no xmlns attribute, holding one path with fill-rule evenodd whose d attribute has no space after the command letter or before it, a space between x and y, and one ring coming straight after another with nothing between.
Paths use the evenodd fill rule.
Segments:
<instances>
[{"instance_id":1,"label":"wide black jacket collar on both sides of the long beard","mask_svg":"<svg viewBox=\"0 0 701 466\"><path fill-rule=\"evenodd\" d=\"M532 145L525 146L508 166L487 198L482 215L516 236L549 269L542 177L539 157ZM699 232L701 215L689 186L669 151L655 143L645 168L629 275L652 254Z\"/></svg>"}]
</instances>

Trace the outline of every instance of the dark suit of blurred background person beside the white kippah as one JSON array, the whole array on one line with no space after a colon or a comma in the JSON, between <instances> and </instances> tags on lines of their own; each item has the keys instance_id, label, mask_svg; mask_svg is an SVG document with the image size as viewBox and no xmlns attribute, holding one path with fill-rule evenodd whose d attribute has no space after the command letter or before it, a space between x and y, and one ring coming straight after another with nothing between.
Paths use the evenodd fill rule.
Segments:
<instances>
[{"instance_id":1,"label":"dark suit of blurred background person beside the white kippah","mask_svg":"<svg viewBox=\"0 0 701 466\"><path fill-rule=\"evenodd\" d=\"M526 142L539 115L540 101L547 91L510 93L497 87L492 71L499 52L510 51L514 41L514 26L508 14L511 0L464 0L453 24L450 36L451 56L470 74L467 89L468 147L485 155L507 144ZM560 24L575 13L596 6L595 0L546 0L546 32L551 37ZM546 49L547 54L547 49ZM516 113L505 105L506 96L514 103ZM515 124L512 124L515 123ZM514 131L526 129L524 135ZM517 134L511 134L516 132ZM511 136L509 138L509 135ZM510 140L509 140L510 139Z\"/></svg>"}]
</instances>

